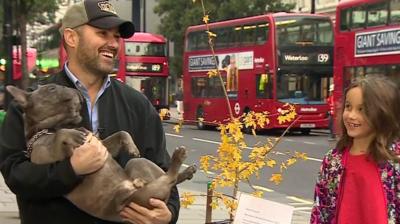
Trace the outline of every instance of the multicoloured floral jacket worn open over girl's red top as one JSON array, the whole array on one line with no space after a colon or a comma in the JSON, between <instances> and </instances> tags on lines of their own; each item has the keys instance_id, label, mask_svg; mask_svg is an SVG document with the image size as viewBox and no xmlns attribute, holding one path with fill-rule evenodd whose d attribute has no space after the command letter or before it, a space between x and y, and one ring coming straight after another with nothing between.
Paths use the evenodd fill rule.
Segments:
<instances>
[{"instance_id":1,"label":"multicoloured floral jacket worn open over girl's red top","mask_svg":"<svg viewBox=\"0 0 400 224\"><path fill-rule=\"evenodd\" d=\"M400 142L393 144L391 149L400 154ZM337 203L340 195L340 180L344 172L345 153L333 149L322 161L315 185L311 224L337 223ZM388 224L400 223L400 164L387 161L379 164L378 167L386 195Z\"/></svg>"}]
</instances>

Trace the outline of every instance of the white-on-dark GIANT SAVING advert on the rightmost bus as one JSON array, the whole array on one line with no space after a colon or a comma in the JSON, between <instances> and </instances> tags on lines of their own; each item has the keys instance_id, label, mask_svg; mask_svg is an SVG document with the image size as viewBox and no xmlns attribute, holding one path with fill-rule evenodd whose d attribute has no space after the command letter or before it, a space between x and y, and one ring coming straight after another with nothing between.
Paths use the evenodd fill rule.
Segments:
<instances>
[{"instance_id":1,"label":"white-on-dark GIANT SAVING advert on the rightmost bus","mask_svg":"<svg viewBox=\"0 0 400 224\"><path fill-rule=\"evenodd\" d=\"M400 29L385 29L357 33L354 43L355 57L400 53Z\"/></svg>"}]
</instances>

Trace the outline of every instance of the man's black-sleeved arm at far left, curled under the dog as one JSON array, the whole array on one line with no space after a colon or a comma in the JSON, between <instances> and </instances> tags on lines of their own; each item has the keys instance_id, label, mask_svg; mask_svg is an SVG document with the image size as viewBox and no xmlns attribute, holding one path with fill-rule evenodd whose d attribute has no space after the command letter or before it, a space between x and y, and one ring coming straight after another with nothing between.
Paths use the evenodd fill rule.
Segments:
<instances>
[{"instance_id":1,"label":"man's black-sleeved arm at far left, curled under the dog","mask_svg":"<svg viewBox=\"0 0 400 224\"><path fill-rule=\"evenodd\" d=\"M37 165L26 158L22 111L10 104L0 129L0 170L8 187L25 198L65 195L80 181L70 160Z\"/></svg>"}]
</instances>

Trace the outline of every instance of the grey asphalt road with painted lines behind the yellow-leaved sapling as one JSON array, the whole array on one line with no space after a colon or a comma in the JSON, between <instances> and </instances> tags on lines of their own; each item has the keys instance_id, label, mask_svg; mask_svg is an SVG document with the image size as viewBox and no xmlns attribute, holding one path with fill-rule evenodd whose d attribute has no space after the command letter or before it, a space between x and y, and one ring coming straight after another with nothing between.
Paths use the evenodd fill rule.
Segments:
<instances>
[{"instance_id":1,"label":"grey asphalt road with painted lines behind the yellow-leaved sapling","mask_svg":"<svg viewBox=\"0 0 400 224\"><path fill-rule=\"evenodd\" d=\"M186 146L189 156L185 164L198 164L200 156L214 154L220 143L219 132L217 130L198 130L195 126L185 125L180 133L175 133L173 124L165 123L164 129L167 135L167 145L170 152L177 146ZM266 132L256 137L246 135L246 142L249 147L257 142L265 142L266 138L275 138L279 133ZM258 189L262 189L264 197L276 202L292 205L295 207L294 216L301 216L300 220L293 223L308 223L308 217L313 202L314 184L318 174L319 166L324 154L334 146L334 142L328 141L328 132L325 130L313 131L310 135L291 133L284 137L283 141L277 146L274 159L282 161L287 159L286 155L279 152L298 151L307 153L307 161L298 161L289 167L283 176L283 182L279 185L269 181L271 173L276 169L266 168L258 180L253 180ZM205 192L207 176L203 172L196 173L195 177L180 185L180 188L190 191ZM247 184L242 184L240 190L252 192ZM181 192L182 193L182 192ZM230 193L230 192L224 192Z\"/></svg>"}]
</instances>

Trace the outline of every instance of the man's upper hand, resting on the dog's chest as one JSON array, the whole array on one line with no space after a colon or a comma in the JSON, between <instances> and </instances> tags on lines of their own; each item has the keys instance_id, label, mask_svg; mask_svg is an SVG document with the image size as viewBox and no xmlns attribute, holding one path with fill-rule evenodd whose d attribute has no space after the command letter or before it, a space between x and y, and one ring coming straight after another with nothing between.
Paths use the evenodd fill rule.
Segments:
<instances>
[{"instance_id":1,"label":"man's upper hand, resting on the dog's chest","mask_svg":"<svg viewBox=\"0 0 400 224\"><path fill-rule=\"evenodd\" d=\"M85 144L74 149L70 161L75 173L84 175L103 167L107 157L107 148L96 137L89 134Z\"/></svg>"}]
</instances>

